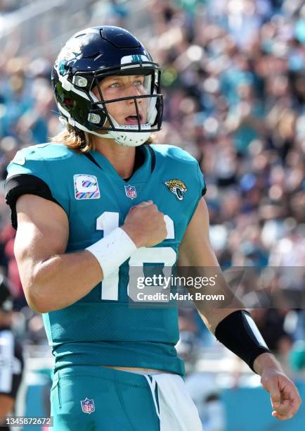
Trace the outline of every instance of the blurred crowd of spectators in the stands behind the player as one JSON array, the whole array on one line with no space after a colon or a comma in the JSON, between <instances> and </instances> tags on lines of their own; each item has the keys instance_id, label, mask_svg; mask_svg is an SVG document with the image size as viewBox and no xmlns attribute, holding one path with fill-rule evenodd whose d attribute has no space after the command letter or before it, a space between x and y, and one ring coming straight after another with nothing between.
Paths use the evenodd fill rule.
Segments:
<instances>
[{"instance_id":1,"label":"blurred crowd of spectators in the stands behind the player","mask_svg":"<svg viewBox=\"0 0 305 431\"><path fill-rule=\"evenodd\" d=\"M164 123L155 142L181 146L200 162L222 268L287 267L270 284L302 293L304 274L294 274L305 263L304 1L148 0L143 35L129 27L130 2L91 3L92 11L103 8L105 23L143 39L162 65ZM60 130L53 61L0 53L0 266L19 310L25 299L3 185L18 149ZM304 339L297 304L257 308L254 316L275 353L287 356ZM27 319L31 342L44 343L41 320ZM182 311L180 324L186 358L194 344L213 344L194 311ZM303 366L305 358L290 363Z\"/></svg>"}]
</instances>

